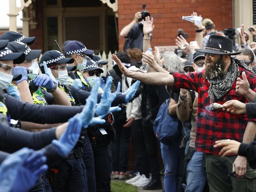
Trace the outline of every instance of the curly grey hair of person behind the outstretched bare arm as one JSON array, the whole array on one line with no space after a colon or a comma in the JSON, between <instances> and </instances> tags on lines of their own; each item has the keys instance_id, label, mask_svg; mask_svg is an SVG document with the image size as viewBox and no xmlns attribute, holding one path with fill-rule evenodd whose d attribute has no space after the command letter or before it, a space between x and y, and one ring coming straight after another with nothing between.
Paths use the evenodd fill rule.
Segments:
<instances>
[{"instance_id":1,"label":"curly grey hair of person behind the outstretched bare arm","mask_svg":"<svg viewBox=\"0 0 256 192\"><path fill-rule=\"evenodd\" d=\"M182 72L183 65L179 57L173 52L166 51L162 55L163 63L169 72Z\"/></svg>"}]
</instances>

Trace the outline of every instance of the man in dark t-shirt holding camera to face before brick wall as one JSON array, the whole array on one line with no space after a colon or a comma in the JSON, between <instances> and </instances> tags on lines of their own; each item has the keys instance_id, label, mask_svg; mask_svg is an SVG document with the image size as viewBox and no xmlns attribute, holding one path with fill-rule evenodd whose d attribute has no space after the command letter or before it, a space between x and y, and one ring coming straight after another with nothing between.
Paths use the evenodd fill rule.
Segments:
<instances>
[{"instance_id":1,"label":"man in dark t-shirt holding camera to face before brick wall","mask_svg":"<svg viewBox=\"0 0 256 192\"><path fill-rule=\"evenodd\" d=\"M124 43L124 51L130 48L139 48L143 51L143 39L146 38L143 35L143 22L150 13L145 9L146 5L143 4L143 10L135 13L134 20L122 28L120 36L126 38ZM151 37L147 37L147 41L150 41Z\"/></svg>"}]
</instances>

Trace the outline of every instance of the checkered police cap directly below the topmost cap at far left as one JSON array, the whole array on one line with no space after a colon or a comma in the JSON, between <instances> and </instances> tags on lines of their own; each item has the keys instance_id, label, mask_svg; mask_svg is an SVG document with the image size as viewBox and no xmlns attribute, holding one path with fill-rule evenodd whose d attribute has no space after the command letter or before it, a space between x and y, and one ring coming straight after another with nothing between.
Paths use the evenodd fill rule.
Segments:
<instances>
[{"instance_id":1,"label":"checkered police cap directly below the topmost cap at far left","mask_svg":"<svg viewBox=\"0 0 256 192\"><path fill-rule=\"evenodd\" d=\"M42 50L31 50L28 45L19 41L9 42L7 48L9 48L13 53L23 52L26 55L25 60L36 59L42 52Z\"/></svg>"}]
</instances>

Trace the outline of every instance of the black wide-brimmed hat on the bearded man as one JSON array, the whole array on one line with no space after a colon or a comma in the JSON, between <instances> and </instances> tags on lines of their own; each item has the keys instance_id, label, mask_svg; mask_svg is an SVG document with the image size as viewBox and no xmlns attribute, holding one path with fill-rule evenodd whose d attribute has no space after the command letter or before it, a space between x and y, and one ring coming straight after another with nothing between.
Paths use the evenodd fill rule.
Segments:
<instances>
[{"instance_id":1,"label":"black wide-brimmed hat on the bearded man","mask_svg":"<svg viewBox=\"0 0 256 192\"><path fill-rule=\"evenodd\" d=\"M204 49L195 49L197 52L218 55L238 55L241 53L233 52L233 41L221 35L211 35Z\"/></svg>"}]
</instances>

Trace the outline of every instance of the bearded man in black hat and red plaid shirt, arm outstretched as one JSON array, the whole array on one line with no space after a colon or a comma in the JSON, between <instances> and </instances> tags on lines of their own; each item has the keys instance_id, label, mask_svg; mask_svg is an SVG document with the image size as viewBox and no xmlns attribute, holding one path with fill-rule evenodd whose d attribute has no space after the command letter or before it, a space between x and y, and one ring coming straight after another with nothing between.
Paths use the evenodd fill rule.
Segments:
<instances>
[{"instance_id":1,"label":"bearded man in black hat and red plaid shirt, arm outstretched","mask_svg":"<svg viewBox=\"0 0 256 192\"><path fill-rule=\"evenodd\" d=\"M143 53L143 59L156 72L132 72L113 55L122 73L147 84L171 85L174 89L198 92L197 126L195 149L204 152L206 172L211 192L252 192L256 191L256 170L250 168L245 157L232 154L219 156L219 149L213 148L216 140L227 139L249 143L256 134L256 119L246 115L226 113L221 109L212 110L212 103L223 104L228 100L248 102L236 93L237 78L245 73L250 88L256 91L255 73L243 61L231 55L232 40L219 35L211 35L205 49L196 49L206 55L206 68L202 72L189 74L167 73L155 61L154 56Z\"/></svg>"}]
</instances>

